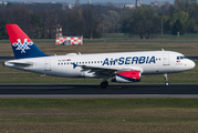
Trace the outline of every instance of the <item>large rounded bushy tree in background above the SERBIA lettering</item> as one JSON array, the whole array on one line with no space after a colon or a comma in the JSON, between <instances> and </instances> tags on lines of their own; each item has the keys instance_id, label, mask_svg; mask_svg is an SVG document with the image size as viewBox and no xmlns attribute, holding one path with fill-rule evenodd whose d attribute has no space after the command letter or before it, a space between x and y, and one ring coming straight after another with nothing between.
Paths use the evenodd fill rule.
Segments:
<instances>
[{"instance_id":1,"label":"large rounded bushy tree in background above the SERBIA lettering","mask_svg":"<svg viewBox=\"0 0 198 133\"><path fill-rule=\"evenodd\" d=\"M133 14L122 22L122 29L129 34L139 34L140 39L153 38L160 29L160 17L154 14L153 8L137 8ZM128 29L128 30L127 30Z\"/></svg>"}]
</instances>

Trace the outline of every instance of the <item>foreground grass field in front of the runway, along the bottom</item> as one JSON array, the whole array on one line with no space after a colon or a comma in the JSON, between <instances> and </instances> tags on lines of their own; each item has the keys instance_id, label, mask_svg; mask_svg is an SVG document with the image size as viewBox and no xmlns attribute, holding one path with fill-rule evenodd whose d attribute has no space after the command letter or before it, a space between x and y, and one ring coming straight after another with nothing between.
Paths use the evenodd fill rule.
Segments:
<instances>
[{"instance_id":1,"label":"foreground grass field in front of the runway, along the bottom","mask_svg":"<svg viewBox=\"0 0 198 133\"><path fill-rule=\"evenodd\" d=\"M197 99L1 99L0 132L198 132Z\"/></svg>"}]
</instances>

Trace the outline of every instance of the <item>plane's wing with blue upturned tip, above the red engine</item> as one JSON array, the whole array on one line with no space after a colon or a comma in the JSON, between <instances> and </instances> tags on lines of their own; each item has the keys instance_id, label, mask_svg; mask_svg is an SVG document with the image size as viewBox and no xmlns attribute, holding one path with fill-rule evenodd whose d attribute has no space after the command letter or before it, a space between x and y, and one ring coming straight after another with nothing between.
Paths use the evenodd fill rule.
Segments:
<instances>
[{"instance_id":1,"label":"plane's wing with blue upturned tip, above the red engine","mask_svg":"<svg viewBox=\"0 0 198 133\"><path fill-rule=\"evenodd\" d=\"M123 71L132 71L132 70L138 70L143 72L143 69L140 66L98 66L98 65L75 65L81 66L82 72L88 71L88 73L94 73L96 75L111 75L116 72L123 72Z\"/></svg>"}]
</instances>

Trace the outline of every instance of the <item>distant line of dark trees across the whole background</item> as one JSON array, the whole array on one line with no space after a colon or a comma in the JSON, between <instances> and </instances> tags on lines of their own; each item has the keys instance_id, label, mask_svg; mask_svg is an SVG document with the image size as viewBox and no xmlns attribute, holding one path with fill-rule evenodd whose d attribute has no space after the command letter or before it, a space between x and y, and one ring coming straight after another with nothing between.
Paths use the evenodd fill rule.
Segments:
<instances>
[{"instance_id":1,"label":"distant line of dark trees across the whole background","mask_svg":"<svg viewBox=\"0 0 198 133\"><path fill-rule=\"evenodd\" d=\"M103 33L128 33L153 39L161 32L198 32L197 0L175 0L174 4L137 9L82 4L69 9L60 3L0 4L0 39L8 39L6 24L17 23L30 38L54 39L55 25L63 35L101 38Z\"/></svg>"}]
</instances>

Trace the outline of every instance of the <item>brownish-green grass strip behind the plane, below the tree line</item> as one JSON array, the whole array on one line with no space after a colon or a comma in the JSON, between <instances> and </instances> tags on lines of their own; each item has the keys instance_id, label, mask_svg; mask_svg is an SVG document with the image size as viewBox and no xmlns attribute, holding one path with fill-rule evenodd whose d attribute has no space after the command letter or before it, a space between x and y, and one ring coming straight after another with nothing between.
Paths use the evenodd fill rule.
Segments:
<instances>
[{"instance_id":1,"label":"brownish-green grass strip behind the plane, below the tree line","mask_svg":"<svg viewBox=\"0 0 198 133\"><path fill-rule=\"evenodd\" d=\"M66 53L107 53L107 52L134 52L153 50L177 51L186 57L198 55L198 39L112 39L84 40L82 45L55 45L55 40L33 40L46 54L63 55ZM0 40L0 57L13 57L9 40Z\"/></svg>"}]
</instances>

